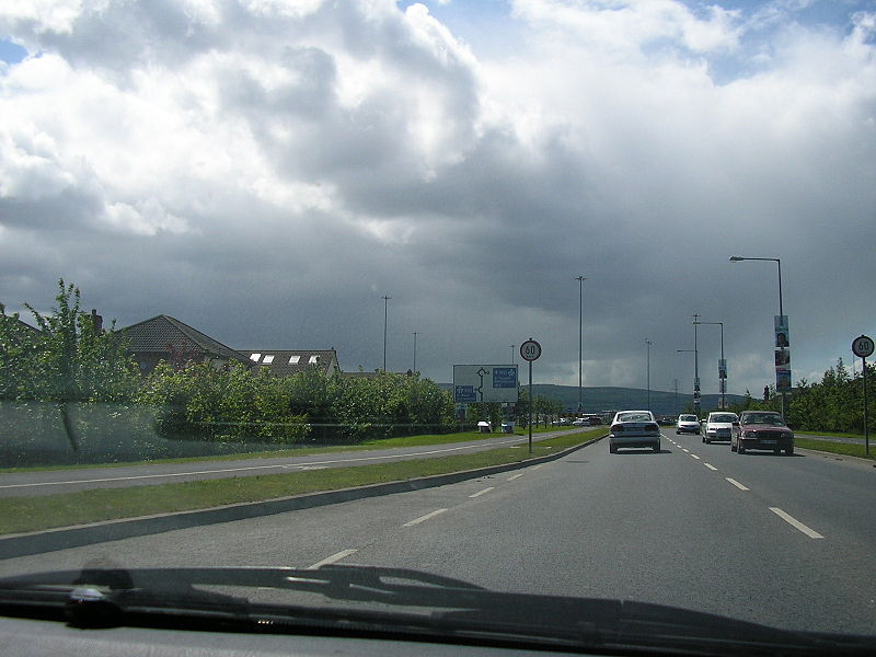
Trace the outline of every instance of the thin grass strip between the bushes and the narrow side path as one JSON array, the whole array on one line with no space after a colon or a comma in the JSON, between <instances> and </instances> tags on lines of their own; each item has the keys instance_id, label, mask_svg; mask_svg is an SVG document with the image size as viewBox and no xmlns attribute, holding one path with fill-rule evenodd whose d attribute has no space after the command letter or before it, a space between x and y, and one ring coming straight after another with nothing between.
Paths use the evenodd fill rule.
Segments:
<instances>
[{"instance_id":1,"label":"thin grass strip between the bushes and the narrow side path","mask_svg":"<svg viewBox=\"0 0 876 657\"><path fill-rule=\"evenodd\" d=\"M580 433L578 427L532 427L532 434L545 434L548 431L575 429ZM278 449L274 451L238 452L233 454L208 454L204 457L175 457L169 459L151 459L147 461L118 461L113 463L83 463L77 465L36 465L33 468L0 468L0 474L13 472L43 472L50 470L84 470L90 468L129 468L131 465L154 465L159 463L197 463L201 461L244 461L249 459L269 459L284 457L308 457L311 454L322 454L343 451L367 451L377 449L394 449L400 447L420 447L424 445L448 445L452 442L466 442L470 440L486 440L498 438L503 434L481 434L479 431L459 431L457 434L426 434L422 436L403 436L401 438L381 438L368 440L356 445L334 445L321 447L300 447L293 449ZM527 431L517 429L517 436L526 436Z\"/></svg>"}]
</instances>

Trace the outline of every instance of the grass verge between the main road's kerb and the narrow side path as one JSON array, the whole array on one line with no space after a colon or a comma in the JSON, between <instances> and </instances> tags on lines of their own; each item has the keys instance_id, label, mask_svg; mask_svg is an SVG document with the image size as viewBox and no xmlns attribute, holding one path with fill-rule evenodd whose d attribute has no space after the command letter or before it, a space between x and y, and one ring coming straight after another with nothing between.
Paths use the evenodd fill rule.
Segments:
<instances>
[{"instance_id":1,"label":"grass verge between the main road's kerb and the narrow side path","mask_svg":"<svg viewBox=\"0 0 876 657\"><path fill-rule=\"evenodd\" d=\"M604 434L602 428L569 431L533 445L533 457L580 445ZM295 453L300 453L296 451ZM337 491L369 484L447 474L530 458L526 448L499 448L472 454L308 470L288 474L182 482L159 486L95 488L60 495L0 499L0 534L70 527L103 520L136 518L260 502L304 493Z\"/></svg>"}]
</instances>

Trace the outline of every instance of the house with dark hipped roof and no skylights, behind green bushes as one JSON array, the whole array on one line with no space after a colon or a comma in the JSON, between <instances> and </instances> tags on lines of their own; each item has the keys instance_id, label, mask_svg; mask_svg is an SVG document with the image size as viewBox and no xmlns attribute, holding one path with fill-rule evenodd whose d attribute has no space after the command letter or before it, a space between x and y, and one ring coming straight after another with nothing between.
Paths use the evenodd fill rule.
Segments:
<instances>
[{"instance_id":1,"label":"house with dark hipped roof and no skylights, behind green bushes","mask_svg":"<svg viewBox=\"0 0 876 657\"><path fill-rule=\"evenodd\" d=\"M252 361L239 351L170 315L155 315L120 332L145 374L155 369L161 360L176 365L208 360L217 367L231 362L252 366Z\"/></svg>"}]
</instances>

